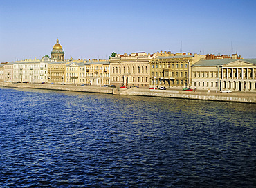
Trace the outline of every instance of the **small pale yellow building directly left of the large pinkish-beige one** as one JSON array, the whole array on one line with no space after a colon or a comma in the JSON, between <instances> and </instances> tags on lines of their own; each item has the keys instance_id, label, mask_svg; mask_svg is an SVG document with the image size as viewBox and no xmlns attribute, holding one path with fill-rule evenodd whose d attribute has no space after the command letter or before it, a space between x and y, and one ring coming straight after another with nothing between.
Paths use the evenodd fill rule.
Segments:
<instances>
[{"instance_id":1,"label":"small pale yellow building directly left of the large pinkish-beige one","mask_svg":"<svg viewBox=\"0 0 256 188\"><path fill-rule=\"evenodd\" d=\"M109 85L109 61L91 60L85 63L86 83L92 86Z\"/></svg>"}]
</instances>

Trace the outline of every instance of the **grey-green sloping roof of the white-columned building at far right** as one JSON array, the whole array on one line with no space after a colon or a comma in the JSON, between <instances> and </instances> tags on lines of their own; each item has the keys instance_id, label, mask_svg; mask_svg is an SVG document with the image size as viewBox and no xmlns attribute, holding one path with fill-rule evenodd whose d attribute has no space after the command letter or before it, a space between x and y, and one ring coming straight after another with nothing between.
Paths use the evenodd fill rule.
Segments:
<instances>
[{"instance_id":1,"label":"grey-green sloping roof of the white-columned building at far right","mask_svg":"<svg viewBox=\"0 0 256 188\"><path fill-rule=\"evenodd\" d=\"M200 60L192 66L222 66L231 62L247 62L256 65L256 59L214 59L214 60Z\"/></svg>"}]
</instances>

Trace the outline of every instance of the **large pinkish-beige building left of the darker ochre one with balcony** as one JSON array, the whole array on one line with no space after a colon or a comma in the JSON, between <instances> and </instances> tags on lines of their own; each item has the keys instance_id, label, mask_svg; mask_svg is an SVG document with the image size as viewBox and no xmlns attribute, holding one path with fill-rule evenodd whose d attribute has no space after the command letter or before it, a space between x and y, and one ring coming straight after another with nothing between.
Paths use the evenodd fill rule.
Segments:
<instances>
[{"instance_id":1,"label":"large pinkish-beige building left of the darker ochre one with balcony","mask_svg":"<svg viewBox=\"0 0 256 188\"><path fill-rule=\"evenodd\" d=\"M110 84L149 87L149 60L154 54L131 53L110 58Z\"/></svg>"}]
</instances>

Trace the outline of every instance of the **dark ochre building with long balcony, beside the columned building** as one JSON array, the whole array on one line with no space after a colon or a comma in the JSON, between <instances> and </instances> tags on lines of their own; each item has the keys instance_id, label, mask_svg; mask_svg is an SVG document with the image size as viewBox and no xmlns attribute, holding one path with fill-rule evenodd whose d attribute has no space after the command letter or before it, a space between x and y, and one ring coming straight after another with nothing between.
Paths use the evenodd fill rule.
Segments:
<instances>
[{"instance_id":1,"label":"dark ochre building with long balcony, beside the columned building","mask_svg":"<svg viewBox=\"0 0 256 188\"><path fill-rule=\"evenodd\" d=\"M150 59L150 86L183 88L191 85L191 65L205 59L205 55L191 53L156 53Z\"/></svg>"}]
</instances>

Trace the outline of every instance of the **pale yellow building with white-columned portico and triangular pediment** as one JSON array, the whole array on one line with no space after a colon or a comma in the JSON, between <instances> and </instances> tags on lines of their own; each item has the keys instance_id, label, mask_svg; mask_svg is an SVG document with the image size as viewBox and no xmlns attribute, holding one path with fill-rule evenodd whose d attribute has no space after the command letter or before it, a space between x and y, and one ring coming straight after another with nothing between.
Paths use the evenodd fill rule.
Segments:
<instances>
[{"instance_id":1,"label":"pale yellow building with white-columned portico and triangular pediment","mask_svg":"<svg viewBox=\"0 0 256 188\"><path fill-rule=\"evenodd\" d=\"M256 59L203 60L192 66L192 87L256 91Z\"/></svg>"}]
</instances>

